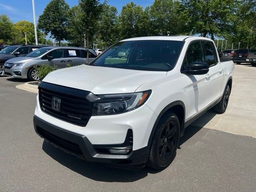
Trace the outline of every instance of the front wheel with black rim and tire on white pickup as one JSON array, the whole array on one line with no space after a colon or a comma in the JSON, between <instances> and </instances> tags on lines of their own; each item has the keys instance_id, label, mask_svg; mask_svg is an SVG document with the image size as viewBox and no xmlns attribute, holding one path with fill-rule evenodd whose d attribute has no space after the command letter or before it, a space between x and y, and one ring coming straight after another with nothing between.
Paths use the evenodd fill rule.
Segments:
<instances>
[{"instance_id":1,"label":"front wheel with black rim and tire on white pickup","mask_svg":"<svg viewBox=\"0 0 256 192\"><path fill-rule=\"evenodd\" d=\"M169 131L168 131L169 130ZM162 170L169 166L176 156L180 139L180 123L176 114L165 114L154 133L147 166Z\"/></svg>"}]
</instances>

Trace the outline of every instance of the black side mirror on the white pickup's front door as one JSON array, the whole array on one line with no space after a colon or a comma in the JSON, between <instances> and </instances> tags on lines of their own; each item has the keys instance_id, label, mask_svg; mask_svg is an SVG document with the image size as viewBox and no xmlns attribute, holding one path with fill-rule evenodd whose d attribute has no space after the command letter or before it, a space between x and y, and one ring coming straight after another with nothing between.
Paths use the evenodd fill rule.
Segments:
<instances>
[{"instance_id":1,"label":"black side mirror on the white pickup's front door","mask_svg":"<svg viewBox=\"0 0 256 192\"><path fill-rule=\"evenodd\" d=\"M203 75L208 73L209 65L204 62L192 62L188 64L188 69L184 70L182 73L190 75Z\"/></svg>"}]
</instances>

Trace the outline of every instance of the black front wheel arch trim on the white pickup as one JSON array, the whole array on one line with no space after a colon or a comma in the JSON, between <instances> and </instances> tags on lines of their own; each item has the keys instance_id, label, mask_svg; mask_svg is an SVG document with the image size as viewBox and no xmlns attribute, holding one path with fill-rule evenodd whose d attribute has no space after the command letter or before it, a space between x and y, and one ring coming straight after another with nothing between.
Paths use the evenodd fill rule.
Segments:
<instances>
[{"instance_id":1,"label":"black front wheel arch trim on the white pickup","mask_svg":"<svg viewBox=\"0 0 256 192\"><path fill-rule=\"evenodd\" d=\"M162 118L162 116L164 116L164 114L168 113L168 112L174 112L179 119L180 122L180 136L184 135L184 122L185 122L185 114L186 114L186 108L185 108L185 104L182 101L174 101L170 104L168 104L158 115L154 126L152 128L152 131L150 133L150 137L148 140L148 146L150 147L152 144L152 138L154 136L154 133L156 132L156 128L158 126L158 123L160 121L160 119Z\"/></svg>"}]
</instances>

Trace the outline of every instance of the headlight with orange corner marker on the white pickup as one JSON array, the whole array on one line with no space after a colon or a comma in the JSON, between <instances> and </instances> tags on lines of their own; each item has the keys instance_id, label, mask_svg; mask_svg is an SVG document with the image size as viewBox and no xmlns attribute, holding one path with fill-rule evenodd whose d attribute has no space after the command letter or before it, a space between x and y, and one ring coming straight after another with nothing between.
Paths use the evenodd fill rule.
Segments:
<instances>
[{"instance_id":1,"label":"headlight with orange corner marker on the white pickup","mask_svg":"<svg viewBox=\"0 0 256 192\"><path fill-rule=\"evenodd\" d=\"M92 105L92 116L114 115L134 110L149 98L151 90L126 94L98 95L100 102Z\"/></svg>"}]
</instances>

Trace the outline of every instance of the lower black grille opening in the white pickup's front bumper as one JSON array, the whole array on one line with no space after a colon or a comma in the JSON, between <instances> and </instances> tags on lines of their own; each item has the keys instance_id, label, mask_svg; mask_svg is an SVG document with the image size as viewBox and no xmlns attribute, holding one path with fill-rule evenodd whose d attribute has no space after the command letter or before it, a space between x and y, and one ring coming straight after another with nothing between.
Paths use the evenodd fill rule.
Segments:
<instances>
[{"instance_id":1,"label":"lower black grille opening in the white pickup's front bumper","mask_svg":"<svg viewBox=\"0 0 256 192\"><path fill-rule=\"evenodd\" d=\"M68 150L74 154L82 155L82 150L80 149L79 145L76 143L73 143L71 141L65 140L63 138L60 138L42 128L37 126L37 132L40 134L43 138L50 141L51 143L63 148L64 150Z\"/></svg>"}]
</instances>

